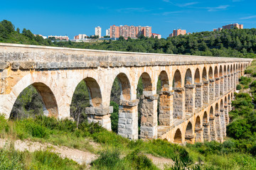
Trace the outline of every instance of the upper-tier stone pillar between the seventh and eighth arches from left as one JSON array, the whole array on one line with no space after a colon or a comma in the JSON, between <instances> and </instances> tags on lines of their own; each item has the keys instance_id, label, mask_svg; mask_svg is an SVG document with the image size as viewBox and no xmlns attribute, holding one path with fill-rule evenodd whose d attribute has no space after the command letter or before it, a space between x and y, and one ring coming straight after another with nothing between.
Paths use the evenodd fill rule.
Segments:
<instances>
[{"instance_id":1,"label":"upper-tier stone pillar between the seventh and eighth arches from left","mask_svg":"<svg viewBox=\"0 0 256 170\"><path fill-rule=\"evenodd\" d=\"M195 111L195 88L194 84L185 85L185 112L194 113Z\"/></svg>"}]
</instances>

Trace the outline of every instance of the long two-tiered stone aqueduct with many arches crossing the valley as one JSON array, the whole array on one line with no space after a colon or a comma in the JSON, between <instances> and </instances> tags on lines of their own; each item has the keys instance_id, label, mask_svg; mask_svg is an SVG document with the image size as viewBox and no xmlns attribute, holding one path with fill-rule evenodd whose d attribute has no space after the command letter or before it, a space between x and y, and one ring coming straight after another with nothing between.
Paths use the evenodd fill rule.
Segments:
<instances>
[{"instance_id":1,"label":"long two-tiered stone aqueduct with many arches crossing the valley","mask_svg":"<svg viewBox=\"0 0 256 170\"><path fill-rule=\"evenodd\" d=\"M119 79L118 133L169 142L223 141L235 86L252 60L110 52L0 43L0 113L9 118L18 95L33 85L48 111L70 117L76 86L90 93L89 122L111 129L110 93ZM137 84L143 82L138 135ZM161 91L156 84L161 79ZM157 100L159 98L159 116Z\"/></svg>"}]
</instances>

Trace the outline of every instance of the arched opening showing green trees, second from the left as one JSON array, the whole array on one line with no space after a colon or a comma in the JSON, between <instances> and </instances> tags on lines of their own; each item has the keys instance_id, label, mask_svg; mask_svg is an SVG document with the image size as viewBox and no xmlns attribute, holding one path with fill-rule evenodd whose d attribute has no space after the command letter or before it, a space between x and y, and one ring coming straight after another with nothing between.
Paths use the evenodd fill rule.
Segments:
<instances>
[{"instance_id":1,"label":"arched opening showing green trees, second from the left","mask_svg":"<svg viewBox=\"0 0 256 170\"><path fill-rule=\"evenodd\" d=\"M87 77L80 81L75 88L70 105L70 117L78 123L82 123L86 119L92 123L95 120L94 108L102 108L100 86L95 79Z\"/></svg>"}]
</instances>

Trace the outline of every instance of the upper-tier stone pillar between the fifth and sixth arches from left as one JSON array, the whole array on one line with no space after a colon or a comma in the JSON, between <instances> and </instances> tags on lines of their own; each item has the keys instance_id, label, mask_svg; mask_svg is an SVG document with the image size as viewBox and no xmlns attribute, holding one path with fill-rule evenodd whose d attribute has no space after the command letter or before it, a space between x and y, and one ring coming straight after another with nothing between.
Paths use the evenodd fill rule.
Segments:
<instances>
[{"instance_id":1,"label":"upper-tier stone pillar between the fifth and sixth arches from left","mask_svg":"<svg viewBox=\"0 0 256 170\"><path fill-rule=\"evenodd\" d=\"M174 102L174 91L160 91L159 98L159 125L170 126L174 121L174 108L172 105Z\"/></svg>"}]
</instances>

